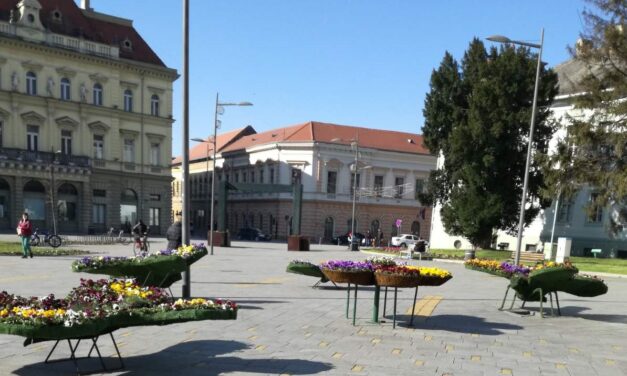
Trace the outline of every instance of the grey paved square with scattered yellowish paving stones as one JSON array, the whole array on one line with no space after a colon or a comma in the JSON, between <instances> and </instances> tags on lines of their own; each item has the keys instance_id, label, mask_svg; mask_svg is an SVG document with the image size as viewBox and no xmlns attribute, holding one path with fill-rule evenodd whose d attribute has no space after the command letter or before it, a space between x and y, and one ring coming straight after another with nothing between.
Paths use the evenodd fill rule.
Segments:
<instances>
[{"instance_id":1,"label":"grey paved square with scattered yellowish paving stones","mask_svg":"<svg viewBox=\"0 0 627 376\"><path fill-rule=\"evenodd\" d=\"M153 241L152 249L164 246ZM627 279L606 278L609 292L597 298L561 295L562 317L521 317L497 310L506 287L500 277L468 271L458 263L424 261L450 270L440 287L420 288L419 316L409 321L412 289L400 289L398 319L372 318L373 289L358 292L357 325L345 318L346 290L285 272L300 258L364 259L335 246L287 252L284 244L236 242L216 248L192 267L192 294L231 298L236 321L201 321L115 332L126 369L114 374L333 374L333 375L623 375L627 374ZM89 246L95 252L129 255L130 246ZM80 278L75 257L0 258L1 289L20 295L65 296ZM175 295L180 283L172 288ZM383 298L383 293L381 294ZM352 294L351 294L352 298ZM383 301L381 302L383 307ZM534 310L537 304L530 304ZM351 307L352 312L352 307ZM114 349L100 340L108 365ZM0 335L0 374L55 375L74 371L70 362L46 365L52 342L22 347L23 338ZM87 352L86 344L79 354ZM67 345L58 355L69 355ZM79 363L97 368L95 361Z\"/></svg>"}]
</instances>

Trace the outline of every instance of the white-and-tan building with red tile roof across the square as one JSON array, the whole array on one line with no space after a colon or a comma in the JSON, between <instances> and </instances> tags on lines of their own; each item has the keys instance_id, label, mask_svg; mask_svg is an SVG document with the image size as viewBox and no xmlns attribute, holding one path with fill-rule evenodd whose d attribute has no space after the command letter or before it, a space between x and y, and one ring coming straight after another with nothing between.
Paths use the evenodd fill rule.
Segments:
<instances>
[{"instance_id":1,"label":"white-and-tan building with red tile roof across the square","mask_svg":"<svg viewBox=\"0 0 627 376\"><path fill-rule=\"evenodd\" d=\"M380 229L387 242L399 230L396 222L400 219L402 233L429 238L431 208L420 203L416 192L423 189L429 171L435 168L436 158L423 146L420 135L307 122L261 133L238 134L228 144L218 147L217 152L219 181L301 183L301 234L315 242L330 242L351 230L353 197L356 232L376 234ZM198 169L190 168L194 170ZM202 172L198 176L201 183L197 189L202 194ZM209 185L210 179L211 176ZM194 177L190 180L194 197ZM173 184L176 203L178 180ZM291 232L291 215L290 193L229 193L227 225L232 234L237 234L240 228L255 227L282 239Z\"/></svg>"}]
</instances>

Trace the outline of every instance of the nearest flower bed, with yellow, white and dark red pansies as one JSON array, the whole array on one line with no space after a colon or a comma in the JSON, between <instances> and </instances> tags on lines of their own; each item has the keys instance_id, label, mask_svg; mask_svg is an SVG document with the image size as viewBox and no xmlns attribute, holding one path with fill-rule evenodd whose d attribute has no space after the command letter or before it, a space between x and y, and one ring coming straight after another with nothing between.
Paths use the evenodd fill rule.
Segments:
<instances>
[{"instance_id":1,"label":"nearest flower bed, with yellow, white and dark red pansies","mask_svg":"<svg viewBox=\"0 0 627 376\"><path fill-rule=\"evenodd\" d=\"M195 320L233 320L230 301L174 300L157 287L134 280L81 280L64 299L0 293L0 333L33 341L94 337L128 326Z\"/></svg>"}]
</instances>

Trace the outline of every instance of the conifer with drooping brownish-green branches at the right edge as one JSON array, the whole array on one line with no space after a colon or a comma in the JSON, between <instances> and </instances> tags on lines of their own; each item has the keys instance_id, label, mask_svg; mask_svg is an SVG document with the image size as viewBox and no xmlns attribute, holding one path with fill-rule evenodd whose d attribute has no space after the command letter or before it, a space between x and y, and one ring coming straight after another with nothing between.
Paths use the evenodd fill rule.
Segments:
<instances>
[{"instance_id":1,"label":"conifer with drooping brownish-green branches at the right edge","mask_svg":"<svg viewBox=\"0 0 627 376\"><path fill-rule=\"evenodd\" d=\"M610 233L627 223L627 1L589 0L586 28L572 49L582 74L557 152L547 163L547 196L595 191L588 210L612 207Z\"/></svg>"}]
</instances>

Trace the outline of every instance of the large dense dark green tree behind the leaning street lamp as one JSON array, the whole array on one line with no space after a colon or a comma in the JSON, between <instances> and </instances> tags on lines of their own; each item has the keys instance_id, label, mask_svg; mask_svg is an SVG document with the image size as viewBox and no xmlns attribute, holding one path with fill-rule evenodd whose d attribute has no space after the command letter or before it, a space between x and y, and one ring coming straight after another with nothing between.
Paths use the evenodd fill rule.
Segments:
<instances>
[{"instance_id":1,"label":"large dense dark green tree behind the leaning street lamp","mask_svg":"<svg viewBox=\"0 0 627 376\"><path fill-rule=\"evenodd\" d=\"M475 247L488 247L495 229L517 231L536 64L537 55L527 48L486 50L474 39L461 65L446 53L431 75L423 134L431 152L444 159L431 173L429 193L422 198L439 202L446 231ZM543 66L527 224L540 209L539 161L553 134L548 107L556 93L557 75Z\"/></svg>"}]
</instances>

